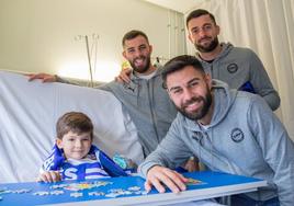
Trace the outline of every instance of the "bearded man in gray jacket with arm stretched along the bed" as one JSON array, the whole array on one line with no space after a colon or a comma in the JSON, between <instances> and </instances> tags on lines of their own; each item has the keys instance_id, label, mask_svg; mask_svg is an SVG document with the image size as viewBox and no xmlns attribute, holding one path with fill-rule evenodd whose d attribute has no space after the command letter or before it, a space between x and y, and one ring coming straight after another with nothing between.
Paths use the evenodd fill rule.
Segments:
<instances>
[{"instance_id":1,"label":"bearded man in gray jacket with arm stretched along the bed","mask_svg":"<svg viewBox=\"0 0 294 206\"><path fill-rule=\"evenodd\" d=\"M166 136L177 110L170 101L168 93L162 89L161 68L150 62L152 46L147 35L142 31L129 31L123 39L123 56L133 68L131 81L120 83L112 81L98 89L112 92L122 102L138 130L138 140L147 157L156 149ZM42 79L43 82L69 81L48 73L30 75L30 81ZM195 161L188 161L189 171L197 169Z\"/></svg>"}]
</instances>

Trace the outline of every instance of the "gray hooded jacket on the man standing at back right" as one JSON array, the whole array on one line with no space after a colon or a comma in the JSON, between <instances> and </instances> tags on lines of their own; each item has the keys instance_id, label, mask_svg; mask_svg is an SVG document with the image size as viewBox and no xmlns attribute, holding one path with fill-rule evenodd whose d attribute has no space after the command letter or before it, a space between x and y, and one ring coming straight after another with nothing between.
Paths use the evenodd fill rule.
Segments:
<instances>
[{"instance_id":1,"label":"gray hooded jacket on the man standing at back right","mask_svg":"<svg viewBox=\"0 0 294 206\"><path fill-rule=\"evenodd\" d=\"M234 47L229 43L222 43L222 53L211 64L199 58L205 71L213 79L227 82L231 89L238 90L246 82L250 82L253 91L261 95L273 111L276 110L280 106L280 96L258 56L249 48Z\"/></svg>"}]
</instances>

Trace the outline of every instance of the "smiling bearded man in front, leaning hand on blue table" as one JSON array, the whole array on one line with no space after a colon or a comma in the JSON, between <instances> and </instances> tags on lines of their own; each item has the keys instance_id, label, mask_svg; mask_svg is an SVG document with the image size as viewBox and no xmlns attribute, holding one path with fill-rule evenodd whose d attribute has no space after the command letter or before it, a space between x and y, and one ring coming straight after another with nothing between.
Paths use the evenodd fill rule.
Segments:
<instances>
[{"instance_id":1,"label":"smiling bearded man in front, leaning hand on blue table","mask_svg":"<svg viewBox=\"0 0 294 206\"><path fill-rule=\"evenodd\" d=\"M162 79L179 113L138 168L147 191L184 191L186 179L171 169L195 156L212 171L268 181L257 192L234 195L231 205L294 205L294 145L262 98L212 80L192 56L167 62Z\"/></svg>"}]
</instances>

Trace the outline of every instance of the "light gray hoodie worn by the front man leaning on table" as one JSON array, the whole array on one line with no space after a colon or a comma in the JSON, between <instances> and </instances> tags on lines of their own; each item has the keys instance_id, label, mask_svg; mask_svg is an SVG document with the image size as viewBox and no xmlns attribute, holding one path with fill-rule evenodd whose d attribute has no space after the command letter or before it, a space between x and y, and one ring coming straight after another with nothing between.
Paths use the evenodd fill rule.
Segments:
<instances>
[{"instance_id":1,"label":"light gray hoodie worn by the front man leaning on table","mask_svg":"<svg viewBox=\"0 0 294 206\"><path fill-rule=\"evenodd\" d=\"M294 205L294 145L259 95L228 90L213 81L214 114L208 127L178 114L166 138L139 165L176 168L194 154L208 169L267 180L269 186L247 195L265 201L279 195L281 205Z\"/></svg>"}]
</instances>

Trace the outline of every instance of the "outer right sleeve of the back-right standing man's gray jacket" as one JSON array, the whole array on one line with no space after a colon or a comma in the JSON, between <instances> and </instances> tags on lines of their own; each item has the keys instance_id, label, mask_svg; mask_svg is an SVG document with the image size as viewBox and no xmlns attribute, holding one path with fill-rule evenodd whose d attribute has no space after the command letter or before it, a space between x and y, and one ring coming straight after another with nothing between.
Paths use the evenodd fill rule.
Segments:
<instances>
[{"instance_id":1,"label":"outer right sleeve of the back-right standing man's gray jacket","mask_svg":"<svg viewBox=\"0 0 294 206\"><path fill-rule=\"evenodd\" d=\"M252 50L250 52L250 82L256 92L265 100L272 111L275 111L280 106L279 93L274 90L259 57Z\"/></svg>"}]
</instances>

